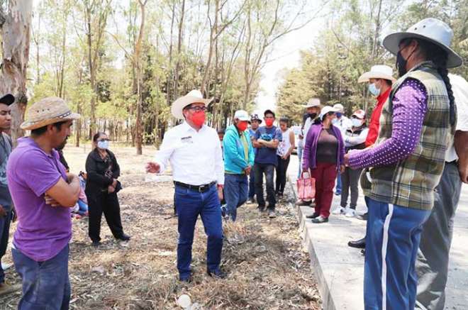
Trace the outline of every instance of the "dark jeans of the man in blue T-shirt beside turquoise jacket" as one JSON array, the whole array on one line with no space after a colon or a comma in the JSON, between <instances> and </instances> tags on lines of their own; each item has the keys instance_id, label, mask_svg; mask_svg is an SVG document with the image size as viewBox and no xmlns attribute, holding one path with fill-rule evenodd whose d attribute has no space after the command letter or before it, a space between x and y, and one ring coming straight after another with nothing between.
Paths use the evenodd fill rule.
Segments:
<instances>
[{"instance_id":1,"label":"dark jeans of the man in blue T-shirt beside turquoise jacket","mask_svg":"<svg viewBox=\"0 0 468 310\"><path fill-rule=\"evenodd\" d=\"M263 174L267 179L267 200L268 208L274 210L277 200L274 198L274 165L271 164L258 164L255 163L255 194L257 195L257 203L260 209L265 206L265 199L263 196Z\"/></svg>"}]
</instances>

